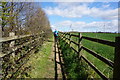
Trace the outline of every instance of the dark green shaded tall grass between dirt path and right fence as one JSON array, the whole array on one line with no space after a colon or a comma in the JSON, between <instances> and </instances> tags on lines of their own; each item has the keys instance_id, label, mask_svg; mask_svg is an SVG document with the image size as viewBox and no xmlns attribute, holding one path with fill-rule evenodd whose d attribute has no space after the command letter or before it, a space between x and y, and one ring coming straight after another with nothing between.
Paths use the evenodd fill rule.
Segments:
<instances>
[{"instance_id":1,"label":"dark green shaded tall grass between dirt path and right fence","mask_svg":"<svg viewBox=\"0 0 120 80\"><path fill-rule=\"evenodd\" d=\"M68 79L86 80L88 77L88 73L86 71L86 64L80 63L80 61L78 60L78 54L75 53L70 48L70 45L67 44L64 40L61 40L59 38L59 43L63 53L65 72L67 74Z\"/></svg>"}]
</instances>

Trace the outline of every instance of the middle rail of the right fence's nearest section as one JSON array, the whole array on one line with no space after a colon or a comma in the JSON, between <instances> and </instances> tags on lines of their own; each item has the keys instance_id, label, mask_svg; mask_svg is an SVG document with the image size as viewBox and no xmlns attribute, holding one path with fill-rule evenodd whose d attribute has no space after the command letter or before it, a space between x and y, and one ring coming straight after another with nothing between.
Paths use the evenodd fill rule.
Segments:
<instances>
[{"instance_id":1,"label":"middle rail of the right fence's nearest section","mask_svg":"<svg viewBox=\"0 0 120 80\"><path fill-rule=\"evenodd\" d=\"M106 63L107 65L109 65L110 67L113 68L114 63L102 56L100 56L99 54L97 54L95 51L92 51L84 46L82 46L82 49L84 49L85 51L87 51L88 53L92 54L94 57L98 58L99 60L101 60L102 62Z\"/></svg>"}]
</instances>

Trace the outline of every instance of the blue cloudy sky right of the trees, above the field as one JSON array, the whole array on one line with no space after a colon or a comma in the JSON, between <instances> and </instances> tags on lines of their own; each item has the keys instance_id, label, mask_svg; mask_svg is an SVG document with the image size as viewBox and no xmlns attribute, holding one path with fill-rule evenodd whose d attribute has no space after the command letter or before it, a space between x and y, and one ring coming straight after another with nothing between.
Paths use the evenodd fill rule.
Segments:
<instances>
[{"instance_id":1,"label":"blue cloudy sky right of the trees, above the field","mask_svg":"<svg viewBox=\"0 0 120 80\"><path fill-rule=\"evenodd\" d=\"M52 30L118 31L118 2L41 2Z\"/></svg>"}]
</instances>

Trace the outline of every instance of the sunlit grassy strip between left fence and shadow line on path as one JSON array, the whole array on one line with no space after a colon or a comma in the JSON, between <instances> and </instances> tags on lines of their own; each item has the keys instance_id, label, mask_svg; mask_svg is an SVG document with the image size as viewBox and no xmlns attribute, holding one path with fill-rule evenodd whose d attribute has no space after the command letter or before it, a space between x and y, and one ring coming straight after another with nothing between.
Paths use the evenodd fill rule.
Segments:
<instances>
[{"instance_id":1,"label":"sunlit grassy strip between left fence and shadow line on path","mask_svg":"<svg viewBox=\"0 0 120 80\"><path fill-rule=\"evenodd\" d=\"M53 37L50 39L53 41ZM52 44L53 42L44 42L40 51L33 54L27 65L31 66L28 72L31 78L53 78L54 77L54 61L52 61ZM52 71L53 70L53 71Z\"/></svg>"}]
</instances>

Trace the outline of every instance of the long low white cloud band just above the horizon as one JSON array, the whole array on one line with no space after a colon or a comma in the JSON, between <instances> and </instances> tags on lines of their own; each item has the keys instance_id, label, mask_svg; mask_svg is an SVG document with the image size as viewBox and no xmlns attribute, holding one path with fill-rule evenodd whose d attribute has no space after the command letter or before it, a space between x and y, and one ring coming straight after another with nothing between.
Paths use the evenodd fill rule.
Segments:
<instances>
[{"instance_id":1,"label":"long low white cloud band just above the horizon","mask_svg":"<svg viewBox=\"0 0 120 80\"><path fill-rule=\"evenodd\" d=\"M72 26L71 26L72 24ZM116 32L118 31L118 21L112 20L107 22L81 22L81 21L62 21L53 25L54 29L58 29L60 31L80 31L80 32L96 32L96 31L105 31L105 32ZM71 27L70 27L71 26Z\"/></svg>"}]
</instances>

